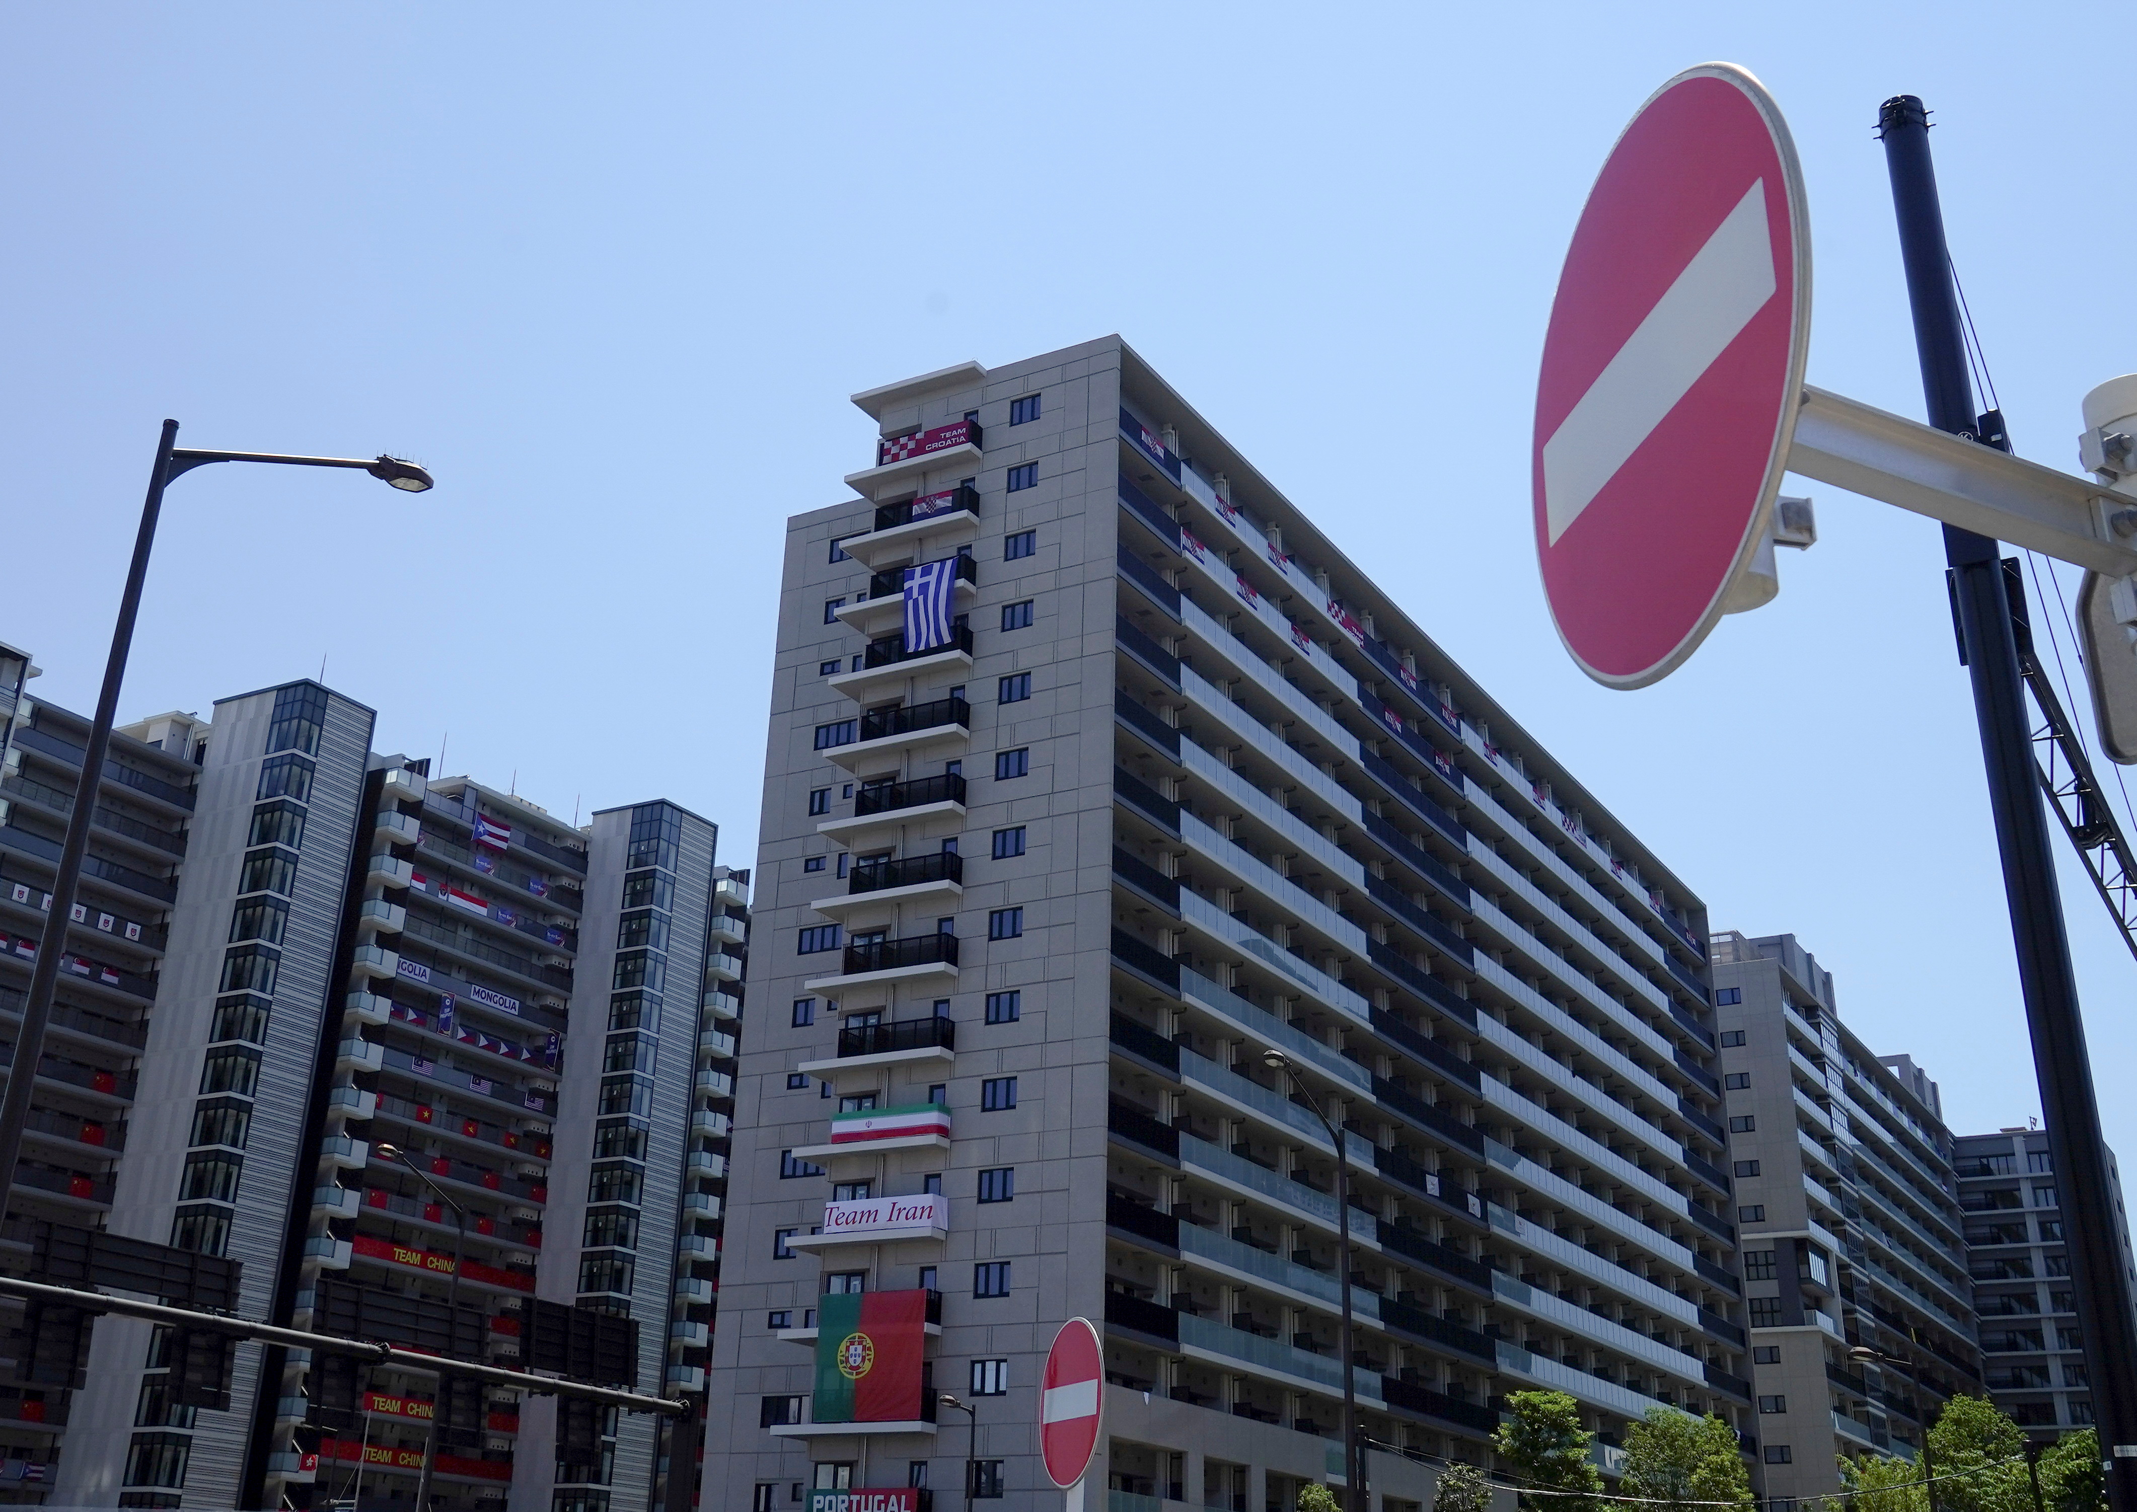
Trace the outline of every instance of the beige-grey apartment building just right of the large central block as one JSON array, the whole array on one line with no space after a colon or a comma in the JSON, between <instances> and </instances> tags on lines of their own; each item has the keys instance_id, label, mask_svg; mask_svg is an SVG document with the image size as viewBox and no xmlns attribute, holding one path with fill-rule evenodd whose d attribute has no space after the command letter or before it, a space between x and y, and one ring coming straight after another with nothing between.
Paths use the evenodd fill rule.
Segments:
<instances>
[{"instance_id":1,"label":"beige-grey apartment building just right of the large central block","mask_svg":"<svg viewBox=\"0 0 2137 1512\"><path fill-rule=\"evenodd\" d=\"M1913 1059L1840 1023L1795 935L1718 933L1712 961L1757 1478L1831 1495L1838 1454L1913 1459L1947 1397L1981 1392L1951 1132Z\"/></svg>"}]
</instances>

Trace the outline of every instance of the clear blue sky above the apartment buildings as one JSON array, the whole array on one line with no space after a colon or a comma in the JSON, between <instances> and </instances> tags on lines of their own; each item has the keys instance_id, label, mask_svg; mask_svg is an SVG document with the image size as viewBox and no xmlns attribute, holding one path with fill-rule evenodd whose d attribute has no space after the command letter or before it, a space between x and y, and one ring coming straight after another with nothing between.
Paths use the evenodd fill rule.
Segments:
<instances>
[{"instance_id":1,"label":"clear blue sky above the apartment buildings","mask_svg":"<svg viewBox=\"0 0 2137 1512\"><path fill-rule=\"evenodd\" d=\"M0 639L88 707L156 425L430 463L173 487L124 709L316 675L551 812L754 848L780 521L846 395L1120 331L1962 1130L2037 1111L1936 530L1831 489L1656 690L1558 649L1528 414L1588 182L1725 58L1810 184L1810 378L1921 412L1878 100L1936 111L2017 448L2137 367L2124 6L11 6ZM2105 70L2105 73L2103 73ZM2109 1106L2137 963L2064 895Z\"/></svg>"}]
</instances>

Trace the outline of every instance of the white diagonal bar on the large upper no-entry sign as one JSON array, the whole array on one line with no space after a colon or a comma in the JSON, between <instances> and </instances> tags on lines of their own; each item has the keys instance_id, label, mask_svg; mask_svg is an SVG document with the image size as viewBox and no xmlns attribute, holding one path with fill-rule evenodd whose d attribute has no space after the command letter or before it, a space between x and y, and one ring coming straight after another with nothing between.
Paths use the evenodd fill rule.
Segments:
<instances>
[{"instance_id":1,"label":"white diagonal bar on the large upper no-entry sign","mask_svg":"<svg viewBox=\"0 0 2137 1512\"><path fill-rule=\"evenodd\" d=\"M1765 179L1759 179L1543 442L1543 515L1551 545L1776 288Z\"/></svg>"}]
</instances>

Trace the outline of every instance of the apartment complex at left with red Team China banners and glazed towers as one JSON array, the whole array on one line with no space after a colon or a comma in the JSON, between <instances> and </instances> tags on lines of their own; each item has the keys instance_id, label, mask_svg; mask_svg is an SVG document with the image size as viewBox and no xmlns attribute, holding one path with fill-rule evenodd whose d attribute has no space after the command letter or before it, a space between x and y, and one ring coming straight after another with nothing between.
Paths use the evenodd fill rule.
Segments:
<instances>
[{"instance_id":1,"label":"apartment complex at left with red Team China banners and glazed towers","mask_svg":"<svg viewBox=\"0 0 2137 1512\"><path fill-rule=\"evenodd\" d=\"M0 912L21 897L0 959L34 957L13 920L58 854L77 726L49 705L9 726ZM370 739L370 709L310 681L115 739L77 910L113 946L62 976L45 1061L71 1070L88 1036L98 1106L38 1108L21 1190L60 1200L17 1200L11 1237L49 1213L227 1256L241 1316L323 1333L457 1313L451 1350L504 1365L530 1298L628 1316L622 1384L686 1386L748 873L716 867L714 826L673 803L581 829ZM103 1318L79 1390L17 1369L0 1497L323 1506L361 1474L365 1503L412 1506L436 1437L434 1508L660 1503L667 1429L648 1418L250 1343L227 1405L182 1403L171 1365L167 1330Z\"/></svg>"}]
</instances>

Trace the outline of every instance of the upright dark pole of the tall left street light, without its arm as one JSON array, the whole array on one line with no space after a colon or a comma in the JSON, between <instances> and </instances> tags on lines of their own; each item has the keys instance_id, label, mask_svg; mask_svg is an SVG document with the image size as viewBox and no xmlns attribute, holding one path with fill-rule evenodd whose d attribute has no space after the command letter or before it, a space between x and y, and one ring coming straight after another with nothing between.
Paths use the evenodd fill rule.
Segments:
<instances>
[{"instance_id":1,"label":"upright dark pole of the tall left street light, without its arm","mask_svg":"<svg viewBox=\"0 0 2137 1512\"><path fill-rule=\"evenodd\" d=\"M96 822L96 790L105 779L111 722L118 718L120 683L126 681L126 656L132 651L135 617L141 613L141 583L147 579L147 555L156 545L156 517L162 513L162 485L171 472L171 442L175 440L177 421L165 421L162 440L156 442L156 461L147 474L147 500L141 504L141 530L135 534L132 566L126 568L126 589L120 594L120 617L111 628L105 688L96 694L96 720L90 724L90 745L81 754L75 809L66 816L60 873L51 880L51 914L45 918L45 938L36 946L30 997L21 1006L21 1031L15 1036L15 1059L9 1066L6 1098L0 1098L0 1228L6 1226L9 1196L15 1190L15 1166L21 1164L21 1136L30 1128L36 1066L45 1057L45 1029L51 1027L51 995L60 982L60 957L66 955L66 933L73 927L75 893L81 886L81 859L90 850L90 824Z\"/></svg>"}]
</instances>

